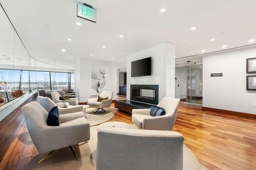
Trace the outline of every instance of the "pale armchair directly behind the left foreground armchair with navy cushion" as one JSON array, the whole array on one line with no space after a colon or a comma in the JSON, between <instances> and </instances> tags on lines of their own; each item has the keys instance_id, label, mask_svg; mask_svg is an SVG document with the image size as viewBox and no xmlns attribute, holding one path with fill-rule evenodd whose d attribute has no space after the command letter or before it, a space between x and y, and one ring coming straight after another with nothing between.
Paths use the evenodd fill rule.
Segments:
<instances>
[{"instance_id":1,"label":"pale armchair directly behind the left foreground armchair with navy cushion","mask_svg":"<svg viewBox=\"0 0 256 170\"><path fill-rule=\"evenodd\" d=\"M41 106L43 106L44 109L46 109L46 111L48 111L48 112L52 109L52 107L57 106L52 100L50 100L50 98L47 98L47 97L38 96L37 102ZM62 101L62 102L65 102L68 107L67 108L58 107L60 115L66 114L66 113L74 113L74 112L83 111L82 105L70 106L69 103L67 103L66 101ZM84 115L85 115L85 113L84 113Z\"/></svg>"}]
</instances>

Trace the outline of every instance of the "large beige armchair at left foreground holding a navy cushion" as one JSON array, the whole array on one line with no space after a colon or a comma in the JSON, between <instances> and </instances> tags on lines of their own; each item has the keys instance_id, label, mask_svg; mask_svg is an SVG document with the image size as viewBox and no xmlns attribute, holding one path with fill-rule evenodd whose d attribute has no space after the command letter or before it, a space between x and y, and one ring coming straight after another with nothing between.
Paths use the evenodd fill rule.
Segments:
<instances>
[{"instance_id":1,"label":"large beige armchair at left foreground holding a navy cushion","mask_svg":"<svg viewBox=\"0 0 256 170\"><path fill-rule=\"evenodd\" d=\"M38 152L52 153L54 150L70 147L76 159L79 160L72 145L78 145L90 139L90 123L84 118L83 112L60 115L60 126L47 125L48 112L38 102L30 102L23 106L22 113ZM42 158L38 164L45 158Z\"/></svg>"}]
</instances>

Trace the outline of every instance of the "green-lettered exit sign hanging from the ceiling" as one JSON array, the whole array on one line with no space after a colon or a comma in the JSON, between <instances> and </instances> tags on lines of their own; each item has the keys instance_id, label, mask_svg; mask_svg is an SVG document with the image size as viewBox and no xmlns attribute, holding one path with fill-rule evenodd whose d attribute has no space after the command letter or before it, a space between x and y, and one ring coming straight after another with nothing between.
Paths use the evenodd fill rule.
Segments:
<instances>
[{"instance_id":1,"label":"green-lettered exit sign hanging from the ceiling","mask_svg":"<svg viewBox=\"0 0 256 170\"><path fill-rule=\"evenodd\" d=\"M84 4L77 4L77 16L95 23L97 22L96 9Z\"/></svg>"}]
</instances>

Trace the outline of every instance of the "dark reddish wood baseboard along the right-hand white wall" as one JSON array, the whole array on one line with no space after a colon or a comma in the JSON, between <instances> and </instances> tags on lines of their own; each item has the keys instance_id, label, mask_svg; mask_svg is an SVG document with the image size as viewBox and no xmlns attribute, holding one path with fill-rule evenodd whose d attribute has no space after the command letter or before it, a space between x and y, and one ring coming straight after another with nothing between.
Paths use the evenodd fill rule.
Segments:
<instances>
[{"instance_id":1,"label":"dark reddish wood baseboard along the right-hand white wall","mask_svg":"<svg viewBox=\"0 0 256 170\"><path fill-rule=\"evenodd\" d=\"M223 109L215 109L215 108L210 108L210 107L202 107L202 110L204 110L204 111L214 111L214 112L224 113L224 114L227 114L227 115L234 115L234 116L237 116L237 117L256 119L256 115L249 114L249 113L242 113L242 112L223 110Z\"/></svg>"}]
</instances>

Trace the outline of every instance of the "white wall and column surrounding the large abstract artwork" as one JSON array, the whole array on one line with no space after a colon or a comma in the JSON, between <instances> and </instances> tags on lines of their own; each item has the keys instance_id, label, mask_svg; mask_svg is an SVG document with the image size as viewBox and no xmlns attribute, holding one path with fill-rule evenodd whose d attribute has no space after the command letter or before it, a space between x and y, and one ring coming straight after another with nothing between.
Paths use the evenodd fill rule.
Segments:
<instances>
[{"instance_id":1,"label":"white wall and column surrounding the large abstract artwork","mask_svg":"<svg viewBox=\"0 0 256 170\"><path fill-rule=\"evenodd\" d=\"M116 100L117 66L116 63L93 59L80 58L76 60L76 97L79 102L87 102L88 98L98 95L90 95L91 66L106 66L110 68L109 89L113 91L112 100Z\"/></svg>"}]
</instances>

